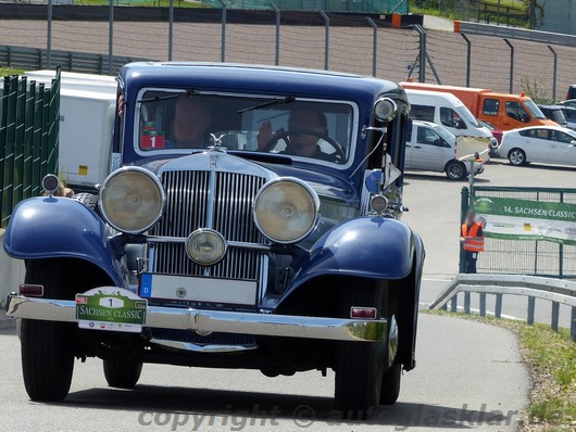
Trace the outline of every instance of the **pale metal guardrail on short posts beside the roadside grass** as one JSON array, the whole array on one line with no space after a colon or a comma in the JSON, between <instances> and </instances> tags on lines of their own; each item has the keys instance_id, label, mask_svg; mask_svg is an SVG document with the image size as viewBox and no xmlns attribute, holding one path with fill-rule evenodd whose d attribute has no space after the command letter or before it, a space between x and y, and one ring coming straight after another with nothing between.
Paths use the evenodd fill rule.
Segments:
<instances>
[{"instance_id":1,"label":"pale metal guardrail on short posts beside the roadside grass","mask_svg":"<svg viewBox=\"0 0 576 432\"><path fill-rule=\"evenodd\" d=\"M534 325L536 298L552 302L550 326L558 331L560 305L572 307L571 338L576 342L576 282L517 275L458 275L447 289L434 301L429 309L458 310L458 294L464 293L464 313L471 313L471 293L479 294L480 316L486 316L486 295L496 295L494 316L502 317L503 295L528 297L526 322Z\"/></svg>"}]
</instances>

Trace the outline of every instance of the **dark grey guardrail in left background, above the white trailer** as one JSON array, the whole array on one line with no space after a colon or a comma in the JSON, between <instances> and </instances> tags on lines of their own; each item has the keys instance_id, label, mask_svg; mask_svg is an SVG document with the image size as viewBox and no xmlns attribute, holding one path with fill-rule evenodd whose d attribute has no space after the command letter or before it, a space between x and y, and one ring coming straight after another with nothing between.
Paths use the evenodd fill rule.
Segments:
<instances>
[{"instance_id":1,"label":"dark grey guardrail in left background, above the white trailer","mask_svg":"<svg viewBox=\"0 0 576 432\"><path fill-rule=\"evenodd\" d=\"M148 59L114 55L111 62L107 54L58 50L51 50L50 58L52 67L60 66L66 72L98 75L117 74L126 63L148 61ZM48 51L42 48L0 45L0 64L26 71L42 69L48 67Z\"/></svg>"}]
</instances>

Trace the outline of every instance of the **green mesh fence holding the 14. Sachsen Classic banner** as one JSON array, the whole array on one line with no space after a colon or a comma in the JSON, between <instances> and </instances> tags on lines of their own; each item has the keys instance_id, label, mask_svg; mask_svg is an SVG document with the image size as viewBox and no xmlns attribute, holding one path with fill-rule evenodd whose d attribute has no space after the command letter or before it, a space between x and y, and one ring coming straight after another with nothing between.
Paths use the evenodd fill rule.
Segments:
<instances>
[{"instance_id":1,"label":"green mesh fence holding the 14. Sachsen Classic banner","mask_svg":"<svg viewBox=\"0 0 576 432\"><path fill-rule=\"evenodd\" d=\"M474 187L462 191L462 223L468 203L477 198L509 198L576 204L576 189ZM463 259L461 255L461 272ZM486 238L485 252L477 262L478 272L576 278L576 246L549 241L516 241Z\"/></svg>"}]
</instances>

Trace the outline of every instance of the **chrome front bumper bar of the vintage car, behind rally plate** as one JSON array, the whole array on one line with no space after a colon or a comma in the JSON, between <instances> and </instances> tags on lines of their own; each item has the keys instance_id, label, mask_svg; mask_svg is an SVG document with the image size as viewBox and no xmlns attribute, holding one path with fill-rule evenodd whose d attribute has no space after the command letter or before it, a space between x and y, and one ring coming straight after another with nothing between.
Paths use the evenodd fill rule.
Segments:
<instances>
[{"instance_id":1,"label":"chrome front bumper bar of the vintage car, behind rally plate","mask_svg":"<svg viewBox=\"0 0 576 432\"><path fill-rule=\"evenodd\" d=\"M76 304L74 301L10 294L7 314L14 318L75 322ZM396 322L393 318L361 320L148 306L146 327L279 338L387 342L389 328L395 329Z\"/></svg>"}]
</instances>

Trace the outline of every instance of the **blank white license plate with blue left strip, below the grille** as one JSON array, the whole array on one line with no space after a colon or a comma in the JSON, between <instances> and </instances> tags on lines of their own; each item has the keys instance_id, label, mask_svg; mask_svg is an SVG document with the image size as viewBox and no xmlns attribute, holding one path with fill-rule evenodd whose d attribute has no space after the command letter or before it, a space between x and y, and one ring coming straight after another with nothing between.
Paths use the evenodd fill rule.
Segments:
<instances>
[{"instance_id":1,"label":"blank white license plate with blue left strip, below the grille","mask_svg":"<svg viewBox=\"0 0 576 432\"><path fill-rule=\"evenodd\" d=\"M202 303L254 306L258 282L253 280L142 274L140 295Z\"/></svg>"}]
</instances>

